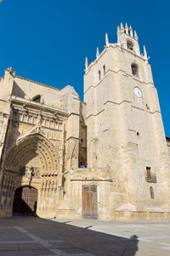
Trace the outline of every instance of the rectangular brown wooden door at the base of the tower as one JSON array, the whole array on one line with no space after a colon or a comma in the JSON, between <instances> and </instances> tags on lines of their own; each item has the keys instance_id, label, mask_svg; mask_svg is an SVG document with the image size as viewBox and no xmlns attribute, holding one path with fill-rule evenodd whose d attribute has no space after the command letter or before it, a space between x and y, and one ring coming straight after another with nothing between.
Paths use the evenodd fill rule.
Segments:
<instances>
[{"instance_id":1,"label":"rectangular brown wooden door at the base of the tower","mask_svg":"<svg viewBox=\"0 0 170 256\"><path fill-rule=\"evenodd\" d=\"M98 218L97 186L82 186L82 218Z\"/></svg>"}]
</instances>

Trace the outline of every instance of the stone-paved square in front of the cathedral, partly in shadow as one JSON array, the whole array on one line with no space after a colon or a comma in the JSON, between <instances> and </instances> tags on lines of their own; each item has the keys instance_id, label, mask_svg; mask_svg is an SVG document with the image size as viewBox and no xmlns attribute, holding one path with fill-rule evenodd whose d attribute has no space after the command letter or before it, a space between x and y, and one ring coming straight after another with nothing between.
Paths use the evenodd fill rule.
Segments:
<instances>
[{"instance_id":1,"label":"stone-paved square in front of the cathedral, partly in shadow","mask_svg":"<svg viewBox=\"0 0 170 256\"><path fill-rule=\"evenodd\" d=\"M0 218L0 256L169 256L170 223Z\"/></svg>"}]
</instances>

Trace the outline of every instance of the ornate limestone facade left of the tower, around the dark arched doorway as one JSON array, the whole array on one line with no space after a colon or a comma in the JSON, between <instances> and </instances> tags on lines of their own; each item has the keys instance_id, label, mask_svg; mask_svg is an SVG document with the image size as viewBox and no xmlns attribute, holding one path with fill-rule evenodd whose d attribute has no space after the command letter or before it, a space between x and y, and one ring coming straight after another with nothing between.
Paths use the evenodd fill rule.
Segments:
<instances>
[{"instance_id":1,"label":"ornate limestone facade left of the tower, around the dark arched doorway","mask_svg":"<svg viewBox=\"0 0 170 256\"><path fill-rule=\"evenodd\" d=\"M86 150L79 96L70 85L58 90L7 70L0 97L1 215L12 214L17 188L32 186L38 193L37 214L54 217L65 208L66 197L71 205L68 174L79 166L79 154Z\"/></svg>"}]
</instances>

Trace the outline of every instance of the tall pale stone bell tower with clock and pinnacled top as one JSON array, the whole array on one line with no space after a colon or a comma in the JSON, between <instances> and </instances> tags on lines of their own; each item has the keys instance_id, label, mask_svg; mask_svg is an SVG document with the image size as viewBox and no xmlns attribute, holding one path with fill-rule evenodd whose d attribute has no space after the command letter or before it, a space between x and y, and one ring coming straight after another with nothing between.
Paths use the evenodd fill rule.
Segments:
<instances>
[{"instance_id":1,"label":"tall pale stone bell tower with clock and pinnacled top","mask_svg":"<svg viewBox=\"0 0 170 256\"><path fill-rule=\"evenodd\" d=\"M111 218L167 218L170 212L167 143L148 60L137 33L121 24L117 43L106 34L104 50L85 63L88 167L111 171L110 194L102 195L110 197Z\"/></svg>"}]
</instances>

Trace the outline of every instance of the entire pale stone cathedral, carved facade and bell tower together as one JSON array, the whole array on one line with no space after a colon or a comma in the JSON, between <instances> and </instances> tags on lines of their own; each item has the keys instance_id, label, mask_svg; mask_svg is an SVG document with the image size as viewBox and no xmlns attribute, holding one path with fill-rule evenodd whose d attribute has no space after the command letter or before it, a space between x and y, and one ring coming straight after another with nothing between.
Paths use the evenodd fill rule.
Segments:
<instances>
[{"instance_id":1,"label":"entire pale stone cathedral, carved facade and bell tower together","mask_svg":"<svg viewBox=\"0 0 170 256\"><path fill-rule=\"evenodd\" d=\"M170 219L170 138L132 27L85 61L84 101L5 70L0 217Z\"/></svg>"}]
</instances>

